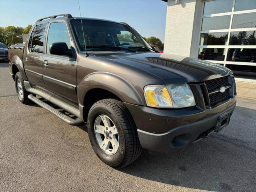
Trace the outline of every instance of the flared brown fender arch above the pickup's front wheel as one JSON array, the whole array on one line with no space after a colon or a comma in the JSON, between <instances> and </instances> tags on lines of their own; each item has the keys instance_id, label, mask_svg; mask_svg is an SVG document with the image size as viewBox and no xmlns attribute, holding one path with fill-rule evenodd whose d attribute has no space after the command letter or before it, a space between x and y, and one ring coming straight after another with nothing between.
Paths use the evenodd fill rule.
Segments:
<instances>
[{"instance_id":1,"label":"flared brown fender arch above the pickup's front wheel","mask_svg":"<svg viewBox=\"0 0 256 192\"><path fill-rule=\"evenodd\" d=\"M77 86L79 103L84 105L86 93L95 88L112 92L124 102L143 105L142 98L140 98L134 86L120 76L108 72L94 72L84 77Z\"/></svg>"}]
</instances>

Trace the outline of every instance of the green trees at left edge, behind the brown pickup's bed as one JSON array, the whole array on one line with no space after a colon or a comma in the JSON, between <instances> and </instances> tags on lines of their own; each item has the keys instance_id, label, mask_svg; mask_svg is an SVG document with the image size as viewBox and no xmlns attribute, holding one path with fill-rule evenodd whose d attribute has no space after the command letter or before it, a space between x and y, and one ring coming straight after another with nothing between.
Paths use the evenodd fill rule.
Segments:
<instances>
[{"instance_id":1,"label":"green trees at left edge, behind the brown pickup's bed","mask_svg":"<svg viewBox=\"0 0 256 192\"><path fill-rule=\"evenodd\" d=\"M26 28L8 26L0 27L0 42L10 46L15 43L22 43L22 34L28 34L32 25L28 25Z\"/></svg>"}]
</instances>

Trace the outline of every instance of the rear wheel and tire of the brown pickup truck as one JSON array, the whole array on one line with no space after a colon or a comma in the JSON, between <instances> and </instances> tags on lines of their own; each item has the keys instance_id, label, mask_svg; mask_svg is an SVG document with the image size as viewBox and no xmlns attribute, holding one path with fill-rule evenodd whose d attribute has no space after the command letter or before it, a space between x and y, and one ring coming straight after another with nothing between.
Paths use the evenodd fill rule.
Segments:
<instances>
[{"instance_id":1,"label":"rear wheel and tire of the brown pickup truck","mask_svg":"<svg viewBox=\"0 0 256 192\"><path fill-rule=\"evenodd\" d=\"M26 91L24 86L24 80L20 74L20 72L17 72L15 75L15 89L18 96L18 99L23 104L28 104L30 100L28 99L29 92Z\"/></svg>"}]
</instances>

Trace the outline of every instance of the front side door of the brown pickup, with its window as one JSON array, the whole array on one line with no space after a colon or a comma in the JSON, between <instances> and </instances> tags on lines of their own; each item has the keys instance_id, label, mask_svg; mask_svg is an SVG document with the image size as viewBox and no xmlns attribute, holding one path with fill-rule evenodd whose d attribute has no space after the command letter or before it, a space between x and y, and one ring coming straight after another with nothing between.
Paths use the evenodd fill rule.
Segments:
<instances>
[{"instance_id":1,"label":"front side door of the brown pickup, with its window","mask_svg":"<svg viewBox=\"0 0 256 192\"><path fill-rule=\"evenodd\" d=\"M68 48L71 47L70 34L64 22L52 22L48 27L46 50L43 56L44 86L51 92L77 102L76 60L68 56L50 54L50 45L56 42L65 42Z\"/></svg>"}]
</instances>

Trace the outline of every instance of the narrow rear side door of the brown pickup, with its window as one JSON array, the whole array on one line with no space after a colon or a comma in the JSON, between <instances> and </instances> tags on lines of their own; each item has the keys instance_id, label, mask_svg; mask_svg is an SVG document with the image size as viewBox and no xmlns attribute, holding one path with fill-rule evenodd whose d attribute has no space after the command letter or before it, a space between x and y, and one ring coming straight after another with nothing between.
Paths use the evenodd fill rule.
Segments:
<instances>
[{"instance_id":1,"label":"narrow rear side door of the brown pickup, with its window","mask_svg":"<svg viewBox=\"0 0 256 192\"><path fill-rule=\"evenodd\" d=\"M28 46L24 48L23 64L30 84L41 87L43 85L42 57L44 47L45 24L34 27Z\"/></svg>"}]
</instances>

